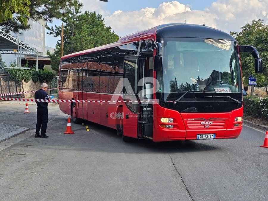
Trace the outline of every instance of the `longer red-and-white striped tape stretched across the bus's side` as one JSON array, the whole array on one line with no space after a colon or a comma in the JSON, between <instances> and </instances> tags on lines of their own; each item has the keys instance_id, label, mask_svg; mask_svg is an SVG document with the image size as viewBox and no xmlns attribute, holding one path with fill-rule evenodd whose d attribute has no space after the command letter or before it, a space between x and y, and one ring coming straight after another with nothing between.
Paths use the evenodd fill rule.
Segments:
<instances>
[{"instance_id":1,"label":"longer red-and-white striped tape stretched across the bus's side","mask_svg":"<svg viewBox=\"0 0 268 201\"><path fill-rule=\"evenodd\" d=\"M155 102L153 100L149 101L89 101L89 100L59 100L59 99L28 99L28 98L0 98L0 100L10 100L10 101L29 101L29 102L55 102L55 103L116 103L116 102Z\"/></svg>"}]
</instances>

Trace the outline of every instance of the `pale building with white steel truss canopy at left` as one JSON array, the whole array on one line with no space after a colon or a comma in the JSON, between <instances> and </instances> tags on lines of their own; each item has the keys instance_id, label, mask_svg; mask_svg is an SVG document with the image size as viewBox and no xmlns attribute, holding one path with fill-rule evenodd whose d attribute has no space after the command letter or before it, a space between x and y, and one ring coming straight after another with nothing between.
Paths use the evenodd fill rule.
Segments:
<instances>
[{"instance_id":1,"label":"pale building with white steel truss canopy at left","mask_svg":"<svg viewBox=\"0 0 268 201\"><path fill-rule=\"evenodd\" d=\"M29 20L30 29L24 31L22 35L16 33L4 33L0 27L0 53L5 65L21 68L27 61L29 65L38 65L43 68L44 65L50 65L50 59L45 52L45 21Z\"/></svg>"}]
</instances>

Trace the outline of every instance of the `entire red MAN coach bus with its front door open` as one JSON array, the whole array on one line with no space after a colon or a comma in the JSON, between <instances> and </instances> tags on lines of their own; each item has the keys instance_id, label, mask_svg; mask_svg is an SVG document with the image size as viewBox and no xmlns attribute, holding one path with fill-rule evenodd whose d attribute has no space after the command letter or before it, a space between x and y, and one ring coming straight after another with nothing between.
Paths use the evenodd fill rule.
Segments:
<instances>
[{"instance_id":1,"label":"entire red MAN coach bus with its front door open","mask_svg":"<svg viewBox=\"0 0 268 201\"><path fill-rule=\"evenodd\" d=\"M60 60L59 99L102 102L60 103L60 110L74 123L85 119L116 129L124 141L237 138L239 52L251 53L255 72L262 72L254 47L193 24L163 24L68 54Z\"/></svg>"}]
</instances>

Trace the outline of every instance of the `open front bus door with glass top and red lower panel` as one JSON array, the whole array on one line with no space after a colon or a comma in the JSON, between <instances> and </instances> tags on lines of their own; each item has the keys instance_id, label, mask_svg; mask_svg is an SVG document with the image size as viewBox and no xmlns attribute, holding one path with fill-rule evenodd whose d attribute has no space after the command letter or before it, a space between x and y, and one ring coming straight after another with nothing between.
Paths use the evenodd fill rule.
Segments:
<instances>
[{"instance_id":1,"label":"open front bus door with glass top and red lower panel","mask_svg":"<svg viewBox=\"0 0 268 201\"><path fill-rule=\"evenodd\" d=\"M123 99L137 101L138 97L138 56L124 57ZM138 136L138 102L123 103L123 132L125 136Z\"/></svg>"}]
</instances>

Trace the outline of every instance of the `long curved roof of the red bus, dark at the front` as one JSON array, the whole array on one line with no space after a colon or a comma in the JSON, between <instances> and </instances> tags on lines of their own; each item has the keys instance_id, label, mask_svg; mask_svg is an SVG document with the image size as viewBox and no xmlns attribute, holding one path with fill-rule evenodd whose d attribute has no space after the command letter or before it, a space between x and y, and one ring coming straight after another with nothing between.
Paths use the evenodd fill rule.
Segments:
<instances>
[{"instance_id":1,"label":"long curved roof of the red bus, dark at the front","mask_svg":"<svg viewBox=\"0 0 268 201\"><path fill-rule=\"evenodd\" d=\"M64 55L63 57L61 57L61 59L75 57L90 52L97 52L99 50L109 49L112 47L121 46L127 43L133 43L140 40L149 40L149 39L155 40L163 37L212 38L212 39L235 41L235 39L228 33L218 29L214 29L212 27L197 24L180 24L180 23L162 24L156 27L152 27L133 34L126 35L114 43Z\"/></svg>"}]
</instances>

